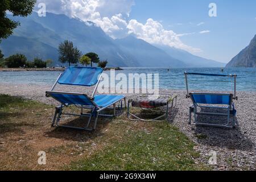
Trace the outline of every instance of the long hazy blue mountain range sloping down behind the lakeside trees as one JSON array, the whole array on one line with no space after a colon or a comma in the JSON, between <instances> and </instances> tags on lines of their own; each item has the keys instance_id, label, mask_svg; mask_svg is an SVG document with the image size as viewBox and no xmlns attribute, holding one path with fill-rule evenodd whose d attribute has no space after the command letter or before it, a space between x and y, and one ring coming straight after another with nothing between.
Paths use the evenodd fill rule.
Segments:
<instances>
[{"instance_id":1,"label":"long hazy blue mountain range sloping down behind the lakeside trees","mask_svg":"<svg viewBox=\"0 0 256 182\"><path fill-rule=\"evenodd\" d=\"M39 17L32 13L26 18L9 18L20 22L14 34L3 40L0 49L5 57L23 53L28 60L40 57L52 59L56 66L58 46L71 40L82 53L96 52L109 67L223 67L224 64L192 55L169 46L152 45L133 35L112 39L93 22L83 22L66 15L47 13Z\"/></svg>"}]
</instances>

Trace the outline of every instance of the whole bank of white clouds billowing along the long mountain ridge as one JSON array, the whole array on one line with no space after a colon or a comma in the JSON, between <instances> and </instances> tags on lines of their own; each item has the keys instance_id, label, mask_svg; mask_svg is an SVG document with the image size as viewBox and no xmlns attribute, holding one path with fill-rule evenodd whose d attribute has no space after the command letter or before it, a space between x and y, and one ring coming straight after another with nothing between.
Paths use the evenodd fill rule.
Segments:
<instances>
[{"instance_id":1,"label":"whole bank of white clouds billowing along the long mountain ridge","mask_svg":"<svg viewBox=\"0 0 256 182\"><path fill-rule=\"evenodd\" d=\"M148 19L146 24L135 19L127 20L131 7L135 5L134 0L38 0L37 4L42 2L46 3L48 12L92 21L114 39L134 34L148 43L164 44L192 53L201 51L199 48L185 45L180 40L181 36L195 32L176 34L172 30L165 30L160 22L153 19Z\"/></svg>"}]
</instances>

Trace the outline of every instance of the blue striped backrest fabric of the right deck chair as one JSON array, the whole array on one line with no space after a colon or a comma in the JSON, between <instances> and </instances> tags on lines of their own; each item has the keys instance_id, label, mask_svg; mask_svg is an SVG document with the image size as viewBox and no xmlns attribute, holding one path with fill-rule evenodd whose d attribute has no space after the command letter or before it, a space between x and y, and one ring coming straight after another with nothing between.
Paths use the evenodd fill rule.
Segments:
<instances>
[{"instance_id":1,"label":"blue striped backrest fabric of the right deck chair","mask_svg":"<svg viewBox=\"0 0 256 182\"><path fill-rule=\"evenodd\" d=\"M223 104L230 105L233 94L199 94L191 93L192 100L197 104Z\"/></svg>"}]
</instances>

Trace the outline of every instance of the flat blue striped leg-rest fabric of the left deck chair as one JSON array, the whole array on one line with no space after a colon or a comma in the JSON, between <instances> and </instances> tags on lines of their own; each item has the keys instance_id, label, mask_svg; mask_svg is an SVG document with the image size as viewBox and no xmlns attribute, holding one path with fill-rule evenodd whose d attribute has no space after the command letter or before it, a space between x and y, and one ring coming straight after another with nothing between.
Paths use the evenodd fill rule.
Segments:
<instances>
[{"instance_id":1,"label":"flat blue striped leg-rest fabric of the left deck chair","mask_svg":"<svg viewBox=\"0 0 256 182\"><path fill-rule=\"evenodd\" d=\"M106 107L106 106L114 104L115 102L117 102L119 100L122 100L123 98L125 98L125 96L99 95L99 96L94 96L94 102L99 107Z\"/></svg>"}]
</instances>

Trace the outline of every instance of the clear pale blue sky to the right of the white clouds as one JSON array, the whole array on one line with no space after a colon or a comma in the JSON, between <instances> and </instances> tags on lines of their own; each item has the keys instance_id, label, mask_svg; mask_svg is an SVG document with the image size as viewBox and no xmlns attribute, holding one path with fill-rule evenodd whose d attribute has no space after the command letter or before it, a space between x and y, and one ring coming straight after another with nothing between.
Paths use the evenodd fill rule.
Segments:
<instances>
[{"instance_id":1,"label":"clear pale blue sky to the right of the white clouds","mask_svg":"<svg viewBox=\"0 0 256 182\"><path fill-rule=\"evenodd\" d=\"M208 15L211 2L217 5L217 17ZM129 18L141 23L152 18L177 34L209 30L207 34L196 33L180 39L201 49L194 54L227 63L256 34L256 1L137 0ZM197 26L200 22L204 24Z\"/></svg>"}]
</instances>

